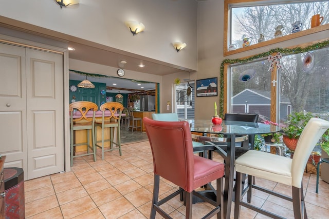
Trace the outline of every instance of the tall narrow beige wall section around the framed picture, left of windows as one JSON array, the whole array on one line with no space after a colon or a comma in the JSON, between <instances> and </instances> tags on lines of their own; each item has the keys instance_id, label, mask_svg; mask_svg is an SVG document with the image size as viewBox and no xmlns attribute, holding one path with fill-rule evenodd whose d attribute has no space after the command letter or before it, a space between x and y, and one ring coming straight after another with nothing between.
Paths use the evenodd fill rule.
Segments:
<instances>
[{"instance_id":1,"label":"tall narrow beige wall section around the framed picture, left of windows","mask_svg":"<svg viewBox=\"0 0 329 219\"><path fill-rule=\"evenodd\" d=\"M198 71L197 79L220 76L223 61L224 0L198 3ZM219 85L219 81L218 81ZM218 87L219 92L219 87ZM195 97L195 118L211 119L218 96Z\"/></svg>"}]
</instances>

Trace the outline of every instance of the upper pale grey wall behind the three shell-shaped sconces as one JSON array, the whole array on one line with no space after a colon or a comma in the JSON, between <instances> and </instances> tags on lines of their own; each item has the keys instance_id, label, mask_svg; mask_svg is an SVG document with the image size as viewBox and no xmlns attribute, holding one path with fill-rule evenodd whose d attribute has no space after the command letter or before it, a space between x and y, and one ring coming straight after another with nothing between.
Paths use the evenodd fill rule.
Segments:
<instances>
[{"instance_id":1,"label":"upper pale grey wall behind the three shell-shaped sconces","mask_svg":"<svg viewBox=\"0 0 329 219\"><path fill-rule=\"evenodd\" d=\"M15 0L2 4L0 15L0 22L11 18L41 27L45 34L64 33L188 69L197 68L196 1L80 0L79 5L61 9L53 0ZM133 36L124 25L131 19L142 22L145 30ZM174 41L188 46L173 55Z\"/></svg>"}]
</instances>

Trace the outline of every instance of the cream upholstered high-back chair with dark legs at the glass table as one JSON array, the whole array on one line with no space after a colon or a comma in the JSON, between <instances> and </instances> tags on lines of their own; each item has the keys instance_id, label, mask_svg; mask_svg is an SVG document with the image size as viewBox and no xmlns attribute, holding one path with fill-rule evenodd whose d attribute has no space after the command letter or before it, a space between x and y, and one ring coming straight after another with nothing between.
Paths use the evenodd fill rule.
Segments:
<instances>
[{"instance_id":1,"label":"cream upholstered high-back chair with dark legs at the glass table","mask_svg":"<svg viewBox=\"0 0 329 219\"><path fill-rule=\"evenodd\" d=\"M311 118L299 137L293 159L255 150L249 150L237 158L235 160L236 191L234 218L239 218L240 206L244 206L273 218L279 218L275 213L271 213L242 201L242 173L291 186L292 197L270 191L260 186L251 185L249 181L247 185L249 190L253 188L259 189L263 192L293 202L295 218L307 218L302 186L303 173L309 154L328 128L328 121L321 120L320 118Z\"/></svg>"}]
</instances>

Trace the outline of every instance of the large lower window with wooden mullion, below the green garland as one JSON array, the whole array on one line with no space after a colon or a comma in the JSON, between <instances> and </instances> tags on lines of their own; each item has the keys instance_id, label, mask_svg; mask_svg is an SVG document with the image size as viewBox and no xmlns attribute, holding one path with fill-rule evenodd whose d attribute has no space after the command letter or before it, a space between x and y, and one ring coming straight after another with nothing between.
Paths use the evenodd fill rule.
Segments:
<instances>
[{"instance_id":1,"label":"large lower window with wooden mullion, below the green garland","mask_svg":"<svg viewBox=\"0 0 329 219\"><path fill-rule=\"evenodd\" d=\"M229 65L228 111L258 113L281 124L289 113L301 111L328 120L329 42L308 48Z\"/></svg>"}]
</instances>

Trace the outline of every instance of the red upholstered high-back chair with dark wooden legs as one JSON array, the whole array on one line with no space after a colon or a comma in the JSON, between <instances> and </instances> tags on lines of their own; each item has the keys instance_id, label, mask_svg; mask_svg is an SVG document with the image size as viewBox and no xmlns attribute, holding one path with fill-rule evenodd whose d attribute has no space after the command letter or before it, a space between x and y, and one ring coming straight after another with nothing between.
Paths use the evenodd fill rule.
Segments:
<instances>
[{"instance_id":1,"label":"red upholstered high-back chair with dark wooden legs","mask_svg":"<svg viewBox=\"0 0 329 219\"><path fill-rule=\"evenodd\" d=\"M156 212L171 218L160 206L183 191L186 193L186 218L192 218L192 196L214 205L215 208L204 218L223 218L224 164L193 154L192 137L188 122L163 122L144 117L153 155L154 188L150 218ZM200 146L206 147L206 146ZM158 201L160 176L177 185L179 189ZM216 180L216 201L204 197L194 189Z\"/></svg>"}]
</instances>

